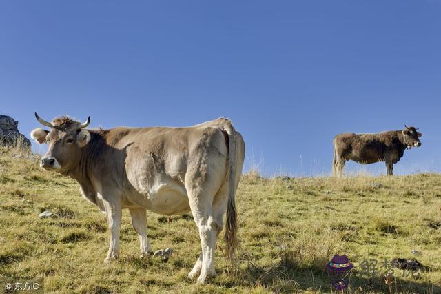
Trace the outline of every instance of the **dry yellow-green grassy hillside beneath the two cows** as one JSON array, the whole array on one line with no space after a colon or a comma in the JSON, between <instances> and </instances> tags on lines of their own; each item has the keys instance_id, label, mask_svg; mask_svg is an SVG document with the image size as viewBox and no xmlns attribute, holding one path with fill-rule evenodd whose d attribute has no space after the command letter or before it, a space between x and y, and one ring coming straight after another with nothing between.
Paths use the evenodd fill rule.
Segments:
<instances>
[{"instance_id":1,"label":"dry yellow-green grassy hillside beneath the two cows","mask_svg":"<svg viewBox=\"0 0 441 294\"><path fill-rule=\"evenodd\" d=\"M38 159L0 149L0 281L43 277L45 291L65 293L329 293L325 264L345 253L354 264L351 293L387 293L382 262L393 257L416 258L428 268L418 277L396 269L394 291L441 293L441 175L245 175L236 196L240 262L231 268L216 251L218 276L197 286L187 280L200 253L190 215L169 221L148 213L153 249L174 249L162 262L139 259L138 237L125 211L120 259L103 264L105 215L80 196L76 182L41 170ZM43 210L57 217L40 219ZM420 255L412 255L413 249ZM372 276L362 271L364 260L378 262Z\"/></svg>"}]
</instances>

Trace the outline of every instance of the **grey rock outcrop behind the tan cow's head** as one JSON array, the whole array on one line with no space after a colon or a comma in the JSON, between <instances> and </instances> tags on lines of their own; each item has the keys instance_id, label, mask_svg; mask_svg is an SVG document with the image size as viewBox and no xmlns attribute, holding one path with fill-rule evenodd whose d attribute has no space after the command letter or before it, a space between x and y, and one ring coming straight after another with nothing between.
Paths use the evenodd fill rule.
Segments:
<instances>
[{"instance_id":1,"label":"grey rock outcrop behind the tan cow's head","mask_svg":"<svg viewBox=\"0 0 441 294\"><path fill-rule=\"evenodd\" d=\"M30 141L19 132L19 122L8 115L0 115L0 146L30 148Z\"/></svg>"}]
</instances>

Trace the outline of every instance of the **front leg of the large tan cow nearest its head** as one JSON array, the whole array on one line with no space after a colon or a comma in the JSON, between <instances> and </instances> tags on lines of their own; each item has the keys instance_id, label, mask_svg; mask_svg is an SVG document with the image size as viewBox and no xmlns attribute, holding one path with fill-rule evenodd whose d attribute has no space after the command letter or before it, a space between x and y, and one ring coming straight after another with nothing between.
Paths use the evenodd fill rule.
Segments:
<instances>
[{"instance_id":1,"label":"front leg of the large tan cow nearest its head","mask_svg":"<svg viewBox=\"0 0 441 294\"><path fill-rule=\"evenodd\" d=\"M121 215L123 210L121 208L121 201L117 197L111 200L103 199L105 207L105 214L107 215L107 224L110 230L110 246L107 251L107 257L104 262L110 262L117 259L119 255L119 231L121 228Z\"/></svg>"}]
</instances>

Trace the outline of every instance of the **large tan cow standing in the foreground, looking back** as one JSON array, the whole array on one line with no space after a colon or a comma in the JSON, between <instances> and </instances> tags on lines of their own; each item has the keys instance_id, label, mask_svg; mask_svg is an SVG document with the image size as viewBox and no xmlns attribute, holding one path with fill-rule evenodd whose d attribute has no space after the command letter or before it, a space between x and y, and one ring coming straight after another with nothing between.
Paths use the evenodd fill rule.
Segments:
<instances>
[{"instance_id":1,"label":"large tan cow standing in the foreground, looking back","mask_svg":"<svg viewBox=\"0 0 441 294\"><path fill-rule=\"evenodd\" d=\"M110 247L105 262L119 255L123 208L130 210L141 255L152 251L146 210L181 215L191 210L199 229L202 253L189 277L205 283L215 275L216 238L223 229L229 254L237 246L234 195L242 173L245 143L229 119L187 128L113 128L85 130L68 117L37 120L32 138L48 144L41 167L72 177L81 193L107 215Z\"/></svg>"}]
</instances>

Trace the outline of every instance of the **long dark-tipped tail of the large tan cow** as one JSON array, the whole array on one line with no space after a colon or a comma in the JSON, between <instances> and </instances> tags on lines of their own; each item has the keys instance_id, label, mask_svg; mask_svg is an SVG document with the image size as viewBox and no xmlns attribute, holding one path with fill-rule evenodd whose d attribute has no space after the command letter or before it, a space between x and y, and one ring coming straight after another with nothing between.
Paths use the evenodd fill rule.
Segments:
<instances>
[{"instance_id":1,"label":"long dark-tipped tail of the large tan cow","mask_svg":"<svg viewBox=\"0 0 441 294\"><path fill-rule=\"evenodd\" d=\"M229 119L225 119L224 130L228 134L228 204L227 204L227 226L225 229L225 242L227 243L227 254L233 261L238 249L237 237L237 213L236 213L236 130Z\"/></svg>"}]
</instances>

